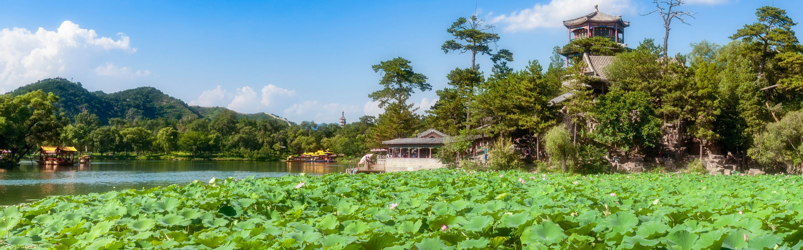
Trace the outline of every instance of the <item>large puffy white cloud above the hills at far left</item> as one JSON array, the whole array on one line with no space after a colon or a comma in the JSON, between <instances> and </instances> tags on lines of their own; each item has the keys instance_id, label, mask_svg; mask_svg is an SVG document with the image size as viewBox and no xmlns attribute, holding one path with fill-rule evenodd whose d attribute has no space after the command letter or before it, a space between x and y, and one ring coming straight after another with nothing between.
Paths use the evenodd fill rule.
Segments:
<instances>
[{"instance_id":1,"label":"large puffy white cloud above the hills at far left","mask_svg":"<svg viewBox=\"0 0 803 250\"><path fill-rule=\"evenodd\" d=\"M39 28L36 31L24 28L0 30L0 93L7 88L19 87L39 79L57 75L79 74L92 71L97 58L108 51L120 50L134 53L127 35L118 33L119 38L99 36L95 30L82 29L70 21L64 21L56 30ZM111 74L128 71L130 68L95 68L96 73ZM149 75L150 71L140 71Z\"/></svg>"}]
</instances>

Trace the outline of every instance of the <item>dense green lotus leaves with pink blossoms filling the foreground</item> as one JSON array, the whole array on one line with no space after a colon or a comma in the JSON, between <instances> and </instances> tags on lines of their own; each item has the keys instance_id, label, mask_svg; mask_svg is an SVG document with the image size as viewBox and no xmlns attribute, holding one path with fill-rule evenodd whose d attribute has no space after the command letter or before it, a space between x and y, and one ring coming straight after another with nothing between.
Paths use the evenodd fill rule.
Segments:
<instances>
[{"instance_id":1,"label":"dense green lotus leaves with pink blossoms filling the foreground","mask_svg":"<svg viewBox=\"0 0 803 250\"><path fill-rule=\"evenodd\" d=\"M212 179L0 210L2 248L801 249L797 175Z\"/></svg>"}]
</instances>

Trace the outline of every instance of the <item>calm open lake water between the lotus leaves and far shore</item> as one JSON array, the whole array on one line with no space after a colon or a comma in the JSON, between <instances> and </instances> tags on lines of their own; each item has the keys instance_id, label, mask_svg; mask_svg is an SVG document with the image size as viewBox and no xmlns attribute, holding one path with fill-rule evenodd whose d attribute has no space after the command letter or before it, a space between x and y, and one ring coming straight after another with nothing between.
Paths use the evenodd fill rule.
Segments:
<instances>
[{"instance_id":1,"label":"calm open lake water between the lotus leaves and far shore","mask_svg":"<svg viewBox=\"0 0 803 250\"><path fill-rule=\"evenodd\" d=\"M39 166L23 161L0 168L0 205L29 203L47 196L85 195L128 188L165 187L204 182L217 177L276 177L344 172L349 163L285 163L256 161L98 161L71 167Z\"/></svg>"}]
</instances>

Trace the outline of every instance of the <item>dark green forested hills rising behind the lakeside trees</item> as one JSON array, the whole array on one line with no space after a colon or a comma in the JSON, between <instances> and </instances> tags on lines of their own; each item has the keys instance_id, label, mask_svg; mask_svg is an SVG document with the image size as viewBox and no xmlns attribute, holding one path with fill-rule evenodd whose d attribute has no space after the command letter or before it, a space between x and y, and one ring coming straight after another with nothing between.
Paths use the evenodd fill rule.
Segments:
<instances>
[{"instance_id":1,"label":"dark green forested hills rising behind the lakeside trees","mask_svg":"<svg viewBox=\"0 0 803 250\"><path fill-rule=\"evenodd\" d=\"M223 111L225 107L199 107L189 106L180 99L166 95L154 87L137 87L130 90L106 94L103 91L90 92L85 89L80 82L70 82L67 79L43 79L36 83L31 83L19 87L6 94L24 95L31 91L42 90L45 93L53 92L59 96L59 107L67 117L73 119L75 115L88 111L100 118L100 122L108 124L108 119L181 119L187 115L196 115L199 118L214 119ZM277 115L267 113L242 114L237 113L238 118L248 117L250 119L279 119L287 122L287 119Z\"/></svg>"}]
</instances>

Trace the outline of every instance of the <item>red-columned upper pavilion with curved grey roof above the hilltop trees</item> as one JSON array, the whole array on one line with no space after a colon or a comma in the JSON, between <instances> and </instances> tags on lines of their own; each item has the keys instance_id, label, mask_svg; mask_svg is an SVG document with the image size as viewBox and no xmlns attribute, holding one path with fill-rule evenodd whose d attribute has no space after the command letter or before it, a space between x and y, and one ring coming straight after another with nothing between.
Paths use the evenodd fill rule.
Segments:
<instances>
[{"instance_id":1,"label":"red-columned upper pavilion with curved grey roof above the hilltop trees","mask_svg":"<svg viewBox=\"0 0 803 250\"><path fill-rule=\"evenodd\" d=\"M621 15L610 15L600 12L597 5L594 11L578 18L563 21L563 26L569 29L569 42L582 38L602 37L609 38L611 42L617 42L622 47L625 44L625 28L630 26L630 22L622 20ZM563 54L566 57L567 66L569 58L581 56L581 54Z\"/></svg>"}]
</instances>

